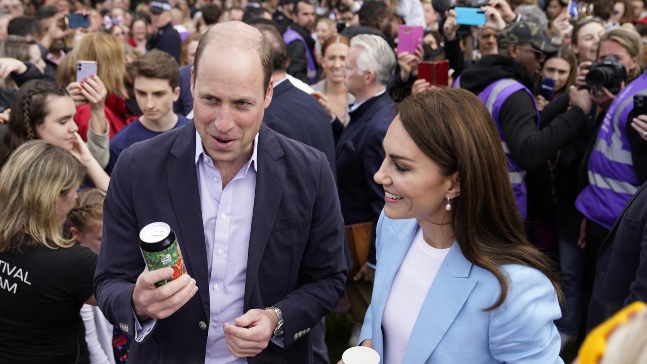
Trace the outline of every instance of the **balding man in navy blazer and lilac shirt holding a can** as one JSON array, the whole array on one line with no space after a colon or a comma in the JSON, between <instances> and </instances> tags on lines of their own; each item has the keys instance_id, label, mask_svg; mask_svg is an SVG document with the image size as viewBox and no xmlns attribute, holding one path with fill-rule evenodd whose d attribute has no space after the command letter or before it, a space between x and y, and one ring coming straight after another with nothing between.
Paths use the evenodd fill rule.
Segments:
<instances>
[{"instance_id":1,"label":"balding man in navy blazer and lilac shirt holding a can","mask_svg":"<svg viewBox=\"0 0 647 364\"><path fill-rule=\"evenodd\" d=\"M122 152L104 203L95 291L134 337L133 363L312 363L309 332L345 288L344 222L318 150L262 124L270 49L214 25L192 69L195 119ZM138 233L165 222L187 274L145 269Z\"/></svg>"}]
</instances>

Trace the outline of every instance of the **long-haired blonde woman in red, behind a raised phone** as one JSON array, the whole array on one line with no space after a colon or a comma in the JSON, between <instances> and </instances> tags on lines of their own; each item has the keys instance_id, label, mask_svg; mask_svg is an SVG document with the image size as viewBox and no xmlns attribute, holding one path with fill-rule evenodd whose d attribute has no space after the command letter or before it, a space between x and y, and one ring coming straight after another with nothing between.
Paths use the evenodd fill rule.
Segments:
<instances>
[{"instance_id":1,"label":"long-haired blonde woman in red, behind a raised phone","mask_svg":"<svg viewBox=\"0 0 647 364\"><path fill-rule=\"evenodd\" d=\"M86 140L88 121L93 108L98 108L100 101L94 100L87 91L93 85L91 80L76 82L76 62L94 61L97 63L97 79L104 85L100 91L105 92L104 111L108 121L110 138L126 126L126 87L124 86L125 66L124 43L104 32L88 33L76 43L74 49L65 56L58 66L56 80L67 85L76 104L74 121L79 126L79 134ZM105 89L105 90L104 90ZM96 101L96 102L95 102Z\"/></svg>"}]
</instances>

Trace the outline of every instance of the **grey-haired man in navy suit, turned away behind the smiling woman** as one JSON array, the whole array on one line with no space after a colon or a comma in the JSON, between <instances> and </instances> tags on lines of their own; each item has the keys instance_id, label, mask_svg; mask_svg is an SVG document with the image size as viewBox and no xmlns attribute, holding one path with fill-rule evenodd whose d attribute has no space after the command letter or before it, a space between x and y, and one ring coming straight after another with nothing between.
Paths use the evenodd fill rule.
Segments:
<instances>
[{"instance_id":1,"label":"grey-haired man in navy suit, turned away behind the smiling woman","mask_svg":"<svg viewBox=\"0 0 647 364\"><path fill-rule=\"evenodd\" d=\"M369 34L353 37L346 57L345 84L356 102L350 108L350 122L337 133L337 188L346 226L373 223L370 240L358 242L354 239L355 244L369 244L370 249L367 262L361 261L366 256L360 257L360 266L347 284L356 334L359 334L358 328L364 321L373 290L375 226L384 207L384 190L373 181L373 175L384 160L382 140L395 117L395 104L386 92L395 62L395 54L388 43L380 36ZM333 128L335 124L339 126L340 122L335 120Z\"/></svg>"}]
</instances>

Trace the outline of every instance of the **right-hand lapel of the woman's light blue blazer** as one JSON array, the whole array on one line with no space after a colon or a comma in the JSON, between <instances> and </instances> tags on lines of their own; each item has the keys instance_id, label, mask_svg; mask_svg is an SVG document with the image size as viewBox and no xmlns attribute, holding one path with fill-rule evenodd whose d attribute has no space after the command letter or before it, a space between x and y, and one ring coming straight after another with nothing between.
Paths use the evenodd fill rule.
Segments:
<instances>
[{"instance_id":1,"label":"right-hand lapel of the woman's light blue blazer","mask_svg":"<svg viewBox=\"0 0 647 364\"><path fill-rule=\"evenodd\" d=\"M476 280L468 278L470 269L472 263L454 243L422 302L404 354L404 363L422 364L431 356L476 286Z\"/></svg>"}]
</instances>

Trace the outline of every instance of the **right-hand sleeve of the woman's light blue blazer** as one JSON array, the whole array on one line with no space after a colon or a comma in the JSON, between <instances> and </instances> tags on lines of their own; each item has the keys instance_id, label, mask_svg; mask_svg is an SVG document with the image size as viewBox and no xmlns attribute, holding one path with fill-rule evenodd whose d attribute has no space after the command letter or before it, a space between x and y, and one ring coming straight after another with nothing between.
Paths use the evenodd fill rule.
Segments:
<instances>
[{"instance_id":1,"label":"right-hand sleeve of the woman's light blue blazer","mask_svg":"<svg viewBox=\"0 0 647 364\"><path fill-rule=\"evenodd\" d=\"M537 269L509 266L509 290L490 312L490 353L501 363L564 363L553 323L562 316L553 284ZM498 298L498 292L494 299Z\"/></svg>"}]
</instances>

